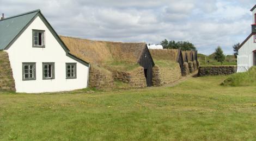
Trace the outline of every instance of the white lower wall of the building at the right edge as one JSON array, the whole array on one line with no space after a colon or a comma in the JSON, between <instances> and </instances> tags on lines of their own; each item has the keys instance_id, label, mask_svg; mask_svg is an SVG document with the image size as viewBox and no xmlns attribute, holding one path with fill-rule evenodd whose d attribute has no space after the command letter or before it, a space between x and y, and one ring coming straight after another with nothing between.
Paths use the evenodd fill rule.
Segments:
<instances>
[{"instance_id":1,"label":"white lower wall of the building at the right edge","mask_svg":"<svg viewBox=\"0 0 256 141\"><path fill-rule=\"evenodd\" d=\"M238 50L237 72L245 72L248 68L253 66L254 50L256 50L256 43L254 43L254 36L251 36L251 38Z\"/></svg>"}]
</instances>

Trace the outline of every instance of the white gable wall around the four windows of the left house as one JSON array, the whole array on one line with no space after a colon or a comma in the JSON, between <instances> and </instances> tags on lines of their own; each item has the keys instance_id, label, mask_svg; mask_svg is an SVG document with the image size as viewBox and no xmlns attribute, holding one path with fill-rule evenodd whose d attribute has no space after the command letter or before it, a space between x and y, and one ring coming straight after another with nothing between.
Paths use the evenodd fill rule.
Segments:
<instances>
[{"instance_id":1,"label":"white gable wall around the four windows of the left house","mask_svg":"<svg viewBox=\"0 0 256 141\"><path fill-rule=\"evenodd\" d=\"M32 47L32 29L45 30L45 48ZM87 87L88 67L66 56L40 17L36 17L6 51L13 69L16 92L57 92ZM36 80L22 80L22 62L36 62ZM55 79L42 80L42 62L55 62ZM68 62L77 63L76 79L66 79L65 63Z\"/></svg>"}]
</instances>

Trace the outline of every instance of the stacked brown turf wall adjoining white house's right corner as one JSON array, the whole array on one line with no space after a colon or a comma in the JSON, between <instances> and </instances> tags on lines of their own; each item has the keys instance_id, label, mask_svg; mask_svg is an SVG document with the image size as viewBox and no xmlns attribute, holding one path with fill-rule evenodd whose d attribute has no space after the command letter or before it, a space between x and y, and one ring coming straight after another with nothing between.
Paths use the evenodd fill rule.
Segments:
<instances>
[{"instance_id":1,"label":"stacked brown turf wall adjoining white house's right corner","mask_svg":"<svg viewBox=\"0 0 256 141\"><path fill-rule=\"evenodd\" d=\"M114 79L112 73L97 66L90 66L89 87L90 88L112 88Z\"/></svg>"}]
</instances>

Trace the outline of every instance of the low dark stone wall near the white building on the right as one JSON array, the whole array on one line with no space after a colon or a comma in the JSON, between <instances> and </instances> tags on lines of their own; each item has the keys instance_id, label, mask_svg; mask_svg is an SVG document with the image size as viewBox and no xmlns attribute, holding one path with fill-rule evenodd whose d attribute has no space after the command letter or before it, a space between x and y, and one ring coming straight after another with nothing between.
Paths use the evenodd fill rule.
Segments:
<instances>
[{"instance_id":1,"label":"low dark stone wall near the white building on the right","mask_svg":"<svg viewBox=\"0 0 256 141\"><path fill-rule=\"evenodd\" d=\"M229 75L236 73L236 69L236 66L200 66L197 75Z\"/></svg>"}]
</instances>

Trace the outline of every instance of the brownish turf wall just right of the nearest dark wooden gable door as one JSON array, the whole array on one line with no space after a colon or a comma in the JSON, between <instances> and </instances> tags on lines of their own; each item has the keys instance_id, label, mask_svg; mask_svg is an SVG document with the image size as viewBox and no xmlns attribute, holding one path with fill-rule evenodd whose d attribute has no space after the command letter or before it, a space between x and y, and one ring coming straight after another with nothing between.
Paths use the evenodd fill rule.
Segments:
<instances>
[{"instance_id":1,"label":"brownish turf wall just right of the nearest dark wooden gable door","mask_svg":"<svg viewBox=\"0 0 256 141\"><path fill-rule=\"evenodd\" d=\"M181 70L178 63L175 66L157 66L153 67L153 86L162 86L170 84L181 78Z\"/></svg>"}]
</instances>

